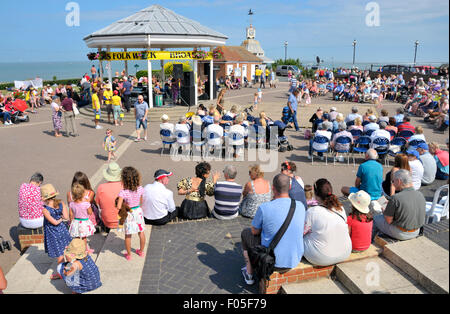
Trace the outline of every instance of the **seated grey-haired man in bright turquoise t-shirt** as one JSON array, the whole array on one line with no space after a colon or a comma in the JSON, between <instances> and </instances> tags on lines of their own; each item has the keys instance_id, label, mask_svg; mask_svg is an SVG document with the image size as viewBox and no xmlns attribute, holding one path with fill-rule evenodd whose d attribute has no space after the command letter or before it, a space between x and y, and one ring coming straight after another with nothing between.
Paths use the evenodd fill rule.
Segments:
<instances>
[{"instance_id":1,"label":"seated grey-haired man in bright turquoise t-shirt","mask_svg":"<svg viewBox=\"0 0 450 314\"><path fill-rule=\"evenodd\" d=\"M375 149L369 149L366 153L366 162L359 166L356 174L355 187L342 188L342 194L349 196L360 190L367 192L372 201L378 200L382 194L383 166L377 161L378 153Z\"/></svg>"}]
</instances>

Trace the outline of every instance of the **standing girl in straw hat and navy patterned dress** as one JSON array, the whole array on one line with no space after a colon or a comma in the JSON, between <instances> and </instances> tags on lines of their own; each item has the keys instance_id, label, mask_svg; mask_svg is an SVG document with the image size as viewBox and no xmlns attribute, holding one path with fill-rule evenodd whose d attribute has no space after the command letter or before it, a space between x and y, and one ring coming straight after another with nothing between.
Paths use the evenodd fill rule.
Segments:
<instances>
[{"instance_id":1,"label":"standing girl in straw hat and navy patterned dress","mask_svg":"<svg viewBox=\"0 0 450 314\"><path fill-rule=\"evenodd\" d=\"M56 197L59 193L51 184L41 187L41 197L44 208L44 248L50 258L57 258L58 263L64 260L65 247L72 241L64 220L69 219L67 206ZM52 275L50 279L58 279L58 275Z\"/></svg>"}]
</instances>

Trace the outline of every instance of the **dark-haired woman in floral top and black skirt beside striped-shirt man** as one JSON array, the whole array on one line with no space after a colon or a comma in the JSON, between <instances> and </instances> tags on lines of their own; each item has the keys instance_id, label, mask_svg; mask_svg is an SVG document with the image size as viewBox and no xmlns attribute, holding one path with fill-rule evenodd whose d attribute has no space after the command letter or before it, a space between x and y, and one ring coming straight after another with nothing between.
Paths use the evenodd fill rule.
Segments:
<instances>
[{"instance_id":1,"label":"dark-haired woman in floral top and black skirt beside striped-shirt man","mask_svg":"<svg viewBox=\"0 0 450 314\"><path fill-rule=\"evenodd\" d=\"M214 174L213 182L207 182L210 173L211 165L202 162L195 168L195 178L184 178L178 183L178 195L186 196L180 207L180 218L194 220L211 217L205 196L214 195L214 185L220 173Z\"/></svg>"}]
</instances>

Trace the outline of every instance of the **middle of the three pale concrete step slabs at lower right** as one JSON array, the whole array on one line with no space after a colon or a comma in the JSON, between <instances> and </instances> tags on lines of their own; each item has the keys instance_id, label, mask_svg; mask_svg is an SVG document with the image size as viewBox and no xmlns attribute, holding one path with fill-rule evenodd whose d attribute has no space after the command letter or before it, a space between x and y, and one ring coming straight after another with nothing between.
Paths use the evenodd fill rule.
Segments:
<instances>
[{"instance_id":1,"label":"middle of the three pale concrete step slabs at lower right","mask_svg":"<svg viewBox=\"0 0 450 314\"><path fill-rule=\"evenodd\" d=\"M339 264L335 276L352 294L427 293L418 282L380 257Z\"/></svg>"}]
</instances>

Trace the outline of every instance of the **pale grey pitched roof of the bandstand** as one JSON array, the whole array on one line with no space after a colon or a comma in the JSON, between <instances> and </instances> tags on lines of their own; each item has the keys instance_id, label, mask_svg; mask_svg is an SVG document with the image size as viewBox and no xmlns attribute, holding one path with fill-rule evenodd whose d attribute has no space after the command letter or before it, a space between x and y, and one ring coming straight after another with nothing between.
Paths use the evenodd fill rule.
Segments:
<instances>
[{"instance_id":1,"label":"pale grey pitched roof of the bandstand","mask_svg":"<svg viewBox=\"0 0 450 314\"><path fill-rule=\"evenodd\" d=\"M152 5L84 38L90 48L213 47L228 37L160 5Z\"/></svg>"}]
</instances>

